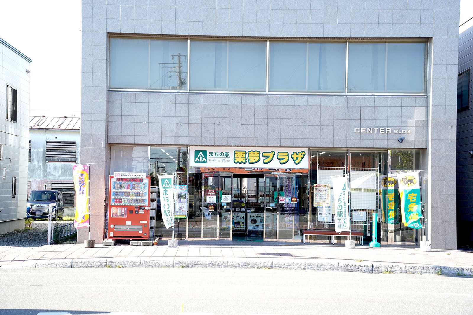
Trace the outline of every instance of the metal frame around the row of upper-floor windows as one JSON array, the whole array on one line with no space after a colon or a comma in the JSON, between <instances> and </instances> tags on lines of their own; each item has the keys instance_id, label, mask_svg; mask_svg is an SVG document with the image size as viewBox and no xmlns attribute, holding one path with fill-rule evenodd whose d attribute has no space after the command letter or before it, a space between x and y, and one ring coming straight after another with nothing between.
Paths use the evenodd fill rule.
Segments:
<instances>
[{"instance_id":1,"label":"metal frame around the row of upper-floor windows","mask_svg":"<svg viewBox=\"0 0 473 315\"><path fill-rule=\"evenodd\" d=\"M428 80L428 65L429 65L429 49L430 43L428 40L384 40L384 41L374 41L374 40L363 40L363 39L348 39L341 40L340 38L327 38L327 39L317 39L309 40L307 38L301 39L284 39L284 38L245 38L245 37L222 37L222 36L202 36L202 37L191 37L191 36L136 36L136 35L111 35L108 40L112 38L130 38L130 39L164 39L164 40L183 40L187 39L187 90L169 90L169 89L133 89L133 88L111 88L110 85L107 87L108 91L121 91L121 92L173 92L173 93L182 93L186 91L189 94L201 94L201 93L212 93L212 94L266 94L266 95L344 95L344 96L366 96L366 95L376 95L376 96L427 96L427 80ZM190 42L192 41L266 41L267 42L267 51L266 51L266 91L223 91L223 90L191 90L191 78L190 78L190 63L192 61L192 55L190 55ZM344 92L270 92L269 91L269 59L270 59L270 42L302 42L302 43L346 43L346 53L345 53L345 91ZM110 42L109 42L110 43ZM408 43L423 43L425 44L425 58L424 58L424 92L422 93L409 93L409 92L348 92L348 68L349 68L349 54L348 47L350 43L379 43L379 44L388 44L388 43L397 43L397 44L408 44ZM110 62L107 63L110 68Z\"/></svg>"}]
</instances>

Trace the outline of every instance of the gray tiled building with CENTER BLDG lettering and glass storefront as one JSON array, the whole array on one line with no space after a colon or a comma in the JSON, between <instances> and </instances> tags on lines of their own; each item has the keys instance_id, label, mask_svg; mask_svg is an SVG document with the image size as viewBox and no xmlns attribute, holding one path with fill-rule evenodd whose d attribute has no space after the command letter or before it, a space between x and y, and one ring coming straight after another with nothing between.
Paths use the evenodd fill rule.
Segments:
<instances>
[{"instance_id":1,"label":"gray tiled building with CENTER BLDG lettering and glass storefront","mask_svg":"<svg viewBox=\"0 0 473 315\"><path fill-rule=\"evenodd\" d=\"M423 228L380 215L379 237L456 248L458 0L82 2L97 241L114 172L175 173L181 237L290 240L334 228L314 184L350 174L351 227L370 238L382 175L420 171Z\"/></svg>"}]
</instances>

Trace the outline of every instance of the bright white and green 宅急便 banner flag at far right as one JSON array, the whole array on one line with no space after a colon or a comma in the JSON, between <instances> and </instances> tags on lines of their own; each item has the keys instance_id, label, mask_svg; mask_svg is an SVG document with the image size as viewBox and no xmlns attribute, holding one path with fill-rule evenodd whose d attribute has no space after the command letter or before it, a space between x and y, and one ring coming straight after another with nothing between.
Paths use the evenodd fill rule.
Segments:
<instances>
[{"instance_id":1,"label":"bright white and green \u5b85\u6025\u4fbf banner flag at far right","mask_svg":"<svg viewBox=\"0 0 473 315\"><path fill-rule=\"evenodd\" d=\"M404 226L423 228L420 224L422 210L420 204L419 171L398 175L401 193L401 218Z\"/></svg>"}]
</instances>

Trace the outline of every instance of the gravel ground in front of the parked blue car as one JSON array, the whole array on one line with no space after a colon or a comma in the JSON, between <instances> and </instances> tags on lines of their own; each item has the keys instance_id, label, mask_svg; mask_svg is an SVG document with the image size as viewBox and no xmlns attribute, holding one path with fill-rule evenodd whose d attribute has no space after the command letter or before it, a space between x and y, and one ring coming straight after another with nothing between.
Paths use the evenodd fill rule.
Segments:
<instances>
[{"instance_id":1,"label":"gravel ground in front of the parked blue car","mask_svg":"<svg viewBox=\"0 0 473 315\"><path fill-rule=\"evenodd\" d=\"M70 222L70 221L59 221ZM52 226L56 223L53 221ZM0 234L0 246L38 247L48 243L48 221L31 222L31 228Z\"/></svg>"}]
</instances>

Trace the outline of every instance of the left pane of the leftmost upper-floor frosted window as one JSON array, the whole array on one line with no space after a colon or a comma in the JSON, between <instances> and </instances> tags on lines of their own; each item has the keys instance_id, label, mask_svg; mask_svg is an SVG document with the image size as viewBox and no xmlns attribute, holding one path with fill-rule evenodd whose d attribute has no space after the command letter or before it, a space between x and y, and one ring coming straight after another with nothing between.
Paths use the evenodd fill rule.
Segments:
<instances>
[{"instance_id":1,"label":"left pane of the leftmost upper-floor frosted window","mask_svg":"<svg viewBox=\"0 0 473 315\"><path fill-rule=\"evenodd\" d=\"M110 87L148 87L148 39L112 38Z\"/></svg>"}]
</instances>

